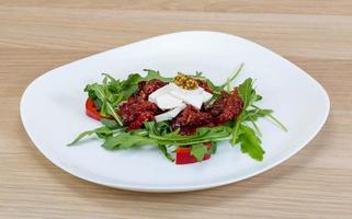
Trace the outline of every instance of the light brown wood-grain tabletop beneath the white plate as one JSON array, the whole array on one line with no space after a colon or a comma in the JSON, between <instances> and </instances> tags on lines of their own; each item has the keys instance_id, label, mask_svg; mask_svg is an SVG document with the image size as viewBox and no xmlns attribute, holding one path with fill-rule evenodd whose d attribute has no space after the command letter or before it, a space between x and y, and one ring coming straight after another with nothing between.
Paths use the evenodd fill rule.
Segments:
<instances>
[{"instance_id":1,"label":"light brown wood-grain tabletop beneath the white plate","mask_svg":"<svg viewBox=\"0 0 352 219\"><path fill-rule=\"evenodd\" d=\"M0 27L0 218L352 218L351 0L1 0ZM271 171L180 194L88 183L35 149L19 113L32 80L109 48L185 30L249 38L309 72L331 99L323 129Z\"/></svg>"}]
</instances>

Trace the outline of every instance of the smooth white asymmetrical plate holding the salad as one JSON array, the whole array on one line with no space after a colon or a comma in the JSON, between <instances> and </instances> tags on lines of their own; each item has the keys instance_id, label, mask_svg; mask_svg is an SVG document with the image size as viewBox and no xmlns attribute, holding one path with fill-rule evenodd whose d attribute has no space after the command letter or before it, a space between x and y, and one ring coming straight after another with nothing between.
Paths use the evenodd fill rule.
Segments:
<instances>
[{"instance_id":1,"label":"smooth white asymmetrical plate holding the salad","mask_svg":"<svg viewBox=\"0 0 352 219\"><path fill-rule=\"evenodd\" d=\"M102 72L126 78L141 69L175 72L203 71L223 82L245 62L237 83L257 79L262 106L273 108L289 129L283 132L260 120L264 161L257 162L231 148L218 147L212 159L189 165L169 162L156 149L106 151L96 139L66 147L79 132L100 126L84 114L88 83L101 81ZM162 35L98 54L54 69L25 90L21 117L41 152L63 170L90 182L144 192L196 191L234 183L277 165L313 139L327 119L329 97L323 88L281 56L247 39L214 32Z\"/></svg>"}]
</instances>

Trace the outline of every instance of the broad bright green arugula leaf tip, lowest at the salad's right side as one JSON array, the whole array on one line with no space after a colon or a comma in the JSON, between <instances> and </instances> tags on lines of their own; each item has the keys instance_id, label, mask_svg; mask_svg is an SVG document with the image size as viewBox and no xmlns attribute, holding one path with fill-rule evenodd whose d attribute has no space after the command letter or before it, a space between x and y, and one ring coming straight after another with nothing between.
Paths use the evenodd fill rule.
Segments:
<instances>
[{"instance_id":1,"label":"broad bright green arugula leaf tip, lowest at the salad's right side","mask_svg":"<svg viewBox=\"0 0 352 219\"><path fill-rule=\"evenodd\" d=\"M248 126L240 125L240 132L238 141L241 146L241 151L243 153L248 153L252 159L262 161L265 151L262 149L261 140L253 129Z\"/></svg>"}]
</instances>

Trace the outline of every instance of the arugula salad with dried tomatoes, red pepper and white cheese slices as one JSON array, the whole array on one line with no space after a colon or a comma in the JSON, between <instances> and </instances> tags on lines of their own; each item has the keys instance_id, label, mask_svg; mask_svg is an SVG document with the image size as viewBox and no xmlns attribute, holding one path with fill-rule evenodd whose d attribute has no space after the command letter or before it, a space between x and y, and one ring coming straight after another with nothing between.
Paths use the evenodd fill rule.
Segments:
<instances>
[{"instance_id":1,"label":"arugula salad with dried tomatoes, red pepper and white cheese slices","mask_svg":"<svg viewBox=\"0 0 352 219\"><path fill-rule=\"evenodd\" d=\"M256 122L265 117L286 128L272 110L256 105L262 96L251 78L231 85L242 67L219 85L202 72L167 78L145 69L145 77L133 73L125 80L103 73L102 83L84 89L86 114L102 126L83 131L69 146L95 135L107 150L154 145L170 161L186 164L208 160L217 143L228 140L262 161L264 150Z\"/></svg>"}]
</instances>

